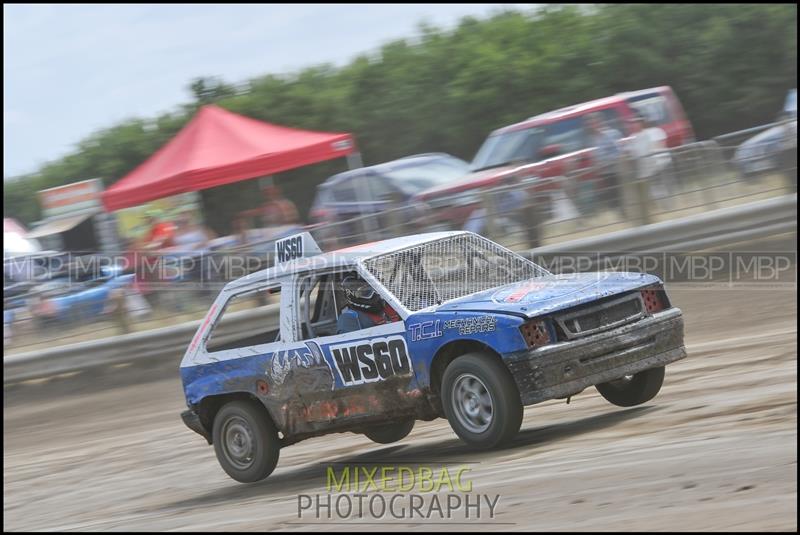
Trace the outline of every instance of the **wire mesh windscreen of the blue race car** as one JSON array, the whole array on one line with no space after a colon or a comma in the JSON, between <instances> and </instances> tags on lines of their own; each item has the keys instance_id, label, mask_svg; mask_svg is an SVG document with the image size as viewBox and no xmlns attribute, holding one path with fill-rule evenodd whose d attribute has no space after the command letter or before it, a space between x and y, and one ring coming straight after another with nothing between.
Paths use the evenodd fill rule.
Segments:
<instances>
[{"instance_id":1,"label":"wire mesh windscreen of the blue race car","mask_svg":"<svg viewBox=\"0 0 800 535\"><path fill-rule=\"evenodd\" d=\"M549 272L475 234L462 234L364 260L364 267L409 310Z\"/></svg>"}]
</instances>

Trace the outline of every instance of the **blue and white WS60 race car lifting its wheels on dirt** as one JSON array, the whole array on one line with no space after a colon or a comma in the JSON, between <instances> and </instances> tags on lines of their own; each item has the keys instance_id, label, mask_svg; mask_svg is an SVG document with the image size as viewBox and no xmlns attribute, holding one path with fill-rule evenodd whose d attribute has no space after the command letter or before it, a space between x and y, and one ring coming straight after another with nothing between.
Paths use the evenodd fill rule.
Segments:
<instances>
[{"instance_id":1,"label":"blue and white WS60 race car lifting its wheels on dirt","mask_svg":"<svg viewBox=\"0 0 800 535\"><path fill-rule=\"evenodd\" d=\"M343 328L363 299L395 314ZM645 403L685 356L682 313L652 275L555 275L470 232L327 253L306 232L221 291L181 362L181 416L228 475L254 482L300 440L387 444L416 420L444 417L467 444L494 448L524 406L590 386L615 405Z\"/></svg>"}]
</instances>

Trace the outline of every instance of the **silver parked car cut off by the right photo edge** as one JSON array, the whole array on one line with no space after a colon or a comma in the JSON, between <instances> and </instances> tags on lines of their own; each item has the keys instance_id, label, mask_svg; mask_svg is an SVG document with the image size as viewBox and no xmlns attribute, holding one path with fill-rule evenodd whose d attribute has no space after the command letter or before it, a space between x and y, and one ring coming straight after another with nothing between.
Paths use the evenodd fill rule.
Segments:
<instances>
[{"instance_id":1,"label":"silver parked car cut off by the right photo edge","mask_svg":"<svg viewBox=\"0 0 800 535\"><path fill-rule=\"evenodd\" d=\"M797 143L797 89L786 95L786 102L778 116L782 123L751 137L736 149L733 161L746 177L758 176L780 169L781 151L786 137Z\"/></svg>"}]
</instances>

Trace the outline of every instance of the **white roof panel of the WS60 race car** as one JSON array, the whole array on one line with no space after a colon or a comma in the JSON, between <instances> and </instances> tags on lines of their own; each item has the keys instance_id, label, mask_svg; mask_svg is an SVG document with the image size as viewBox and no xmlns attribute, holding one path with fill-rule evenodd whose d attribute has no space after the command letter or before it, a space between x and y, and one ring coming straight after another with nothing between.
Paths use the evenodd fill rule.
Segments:
<instances>
[{"instance_id":1,"label":"white roof panel of the WS60 race car","mask_svg":"<svg viewBox=\"0 0 800 535\"><path fill-rule=\"evenodd\" d=\"M325 268L336 268L355 266L358 262L367 258L372 258L386 253L391 253L406 247L421 245L423 243L436 241L443 238L469 234L465 231L456 232L428 232L425 234L414 234L413 236L402 236L369 243L337 249L315 256L308 256L291 260L280 266L275 266L261 271L256 271L225 285L223 291L255 286L268 281L278 281L298 273L316 271Z\"/></svg>"}]
</instances>

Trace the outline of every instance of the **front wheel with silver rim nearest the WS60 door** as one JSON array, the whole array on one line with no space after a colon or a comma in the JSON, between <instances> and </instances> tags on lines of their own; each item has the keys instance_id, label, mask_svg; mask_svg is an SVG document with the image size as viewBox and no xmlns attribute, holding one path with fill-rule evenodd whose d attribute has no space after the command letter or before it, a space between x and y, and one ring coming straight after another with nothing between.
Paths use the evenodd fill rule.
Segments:
<instances>
[{"instance_id":1,"label":"front wheel with silver rim nearest the WS60 door","mask_svg":"<svg viewBox=\"0 0 800 535\"><path fill-rule=\"evenodd\" d=\"M478 450L507 443L522 425L522 402L508 368L495 356L469 353L445 368L442 408L456 435Z\"/></svg>"}]
</instances>

